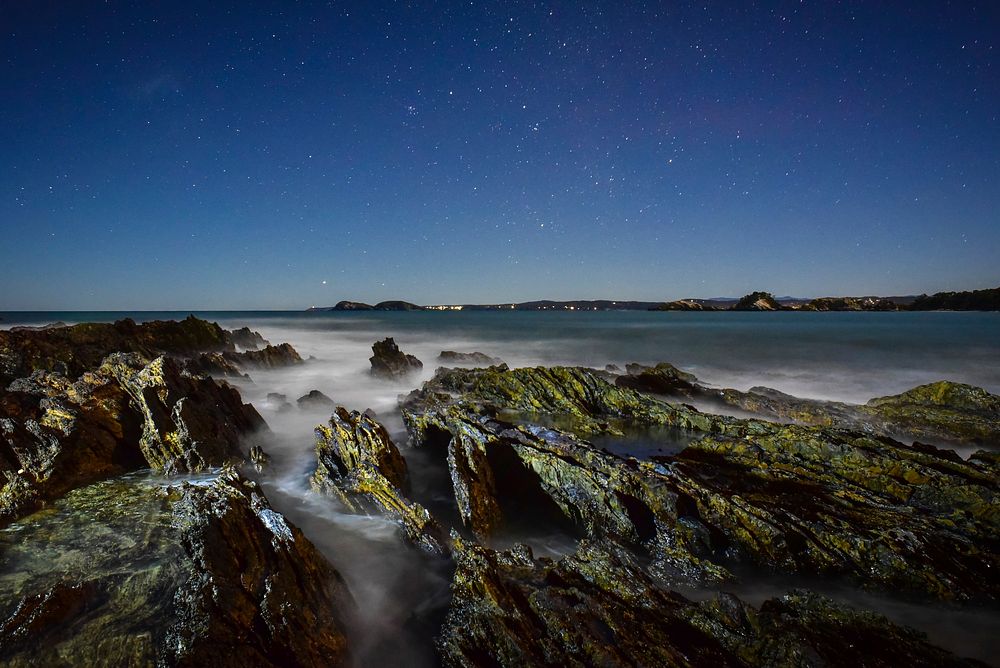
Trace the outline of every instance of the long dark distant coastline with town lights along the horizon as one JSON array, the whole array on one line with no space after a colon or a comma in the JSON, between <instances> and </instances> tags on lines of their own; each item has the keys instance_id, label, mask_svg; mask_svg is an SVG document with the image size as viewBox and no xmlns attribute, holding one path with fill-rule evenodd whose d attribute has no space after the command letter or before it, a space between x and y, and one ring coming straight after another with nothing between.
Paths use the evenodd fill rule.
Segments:
<instances>
[{"instance_id":1,"label":"long dark distant coastline with town lights along the horizon","mask_svg":"<svg viewBox=\"0 0 1000 668\"><path fill-rule=\"evenodd\" d=\"M1000 287L965 292L894 297L775 297L751 292L743 297L678 299L672 302L578 299L540 300L503 304L433 304L406 301L377 304L341 301L335 306L311 306L309 312L327 311L1000 311Z\"/></svg>"}]
</instances>

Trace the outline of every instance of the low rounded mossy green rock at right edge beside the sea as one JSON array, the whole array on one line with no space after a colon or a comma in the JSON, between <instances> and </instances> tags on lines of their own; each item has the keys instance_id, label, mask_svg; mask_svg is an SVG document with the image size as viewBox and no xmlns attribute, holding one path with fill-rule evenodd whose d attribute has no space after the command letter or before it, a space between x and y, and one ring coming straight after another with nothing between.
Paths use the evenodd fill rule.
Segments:
<instances>
[{"instance_id":1,"label":"low rounded mossy green rock at right edge beside the sea","mask_svg":"<svg viewBox=\"0 0 1000 668\"><path fill-rule=\"evenodd\" d=\"M917 439L1000 448L1000 396L981 387L942 380L872 399L862 410Z\"/></svg>"}]
</instances>

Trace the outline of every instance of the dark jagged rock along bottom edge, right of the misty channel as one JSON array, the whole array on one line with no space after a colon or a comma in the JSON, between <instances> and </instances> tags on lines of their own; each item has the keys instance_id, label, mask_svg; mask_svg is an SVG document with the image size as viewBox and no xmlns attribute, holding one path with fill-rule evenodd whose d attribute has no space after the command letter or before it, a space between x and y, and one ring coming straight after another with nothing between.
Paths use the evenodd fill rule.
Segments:
<instances>
[{"instance_id":1,"label":"dark jagged rock along bottom edge, right of the misty channel","mask_svg":"<svg viewBox=\"0 0 1000 668\"><path fill-rule=\"evenodd\" d=\"M974 665L884 617L807 592L759 610L731 595L695 603L651 581L624 550L584 541L559 561L455 538L446 666Z\"/></svg>"}]
</instances>

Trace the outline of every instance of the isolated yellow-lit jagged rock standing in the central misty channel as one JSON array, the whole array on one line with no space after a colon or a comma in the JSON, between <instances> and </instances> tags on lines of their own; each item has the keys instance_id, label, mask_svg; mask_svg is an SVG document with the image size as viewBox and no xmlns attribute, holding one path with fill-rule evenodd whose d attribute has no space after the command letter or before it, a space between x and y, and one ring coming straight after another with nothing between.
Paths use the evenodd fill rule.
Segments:
<instances>
[{"instance_id":1,"label":"isolated yellow-lit jagged rock standing in the central misty channel","mask_svg":"<svg viewBox=\"0 0 1000 668\"><path fill-rule=\"evenodd\" d=\"M406 462L373 415L338 406L329 425L316 428L316 460L313 488L337 496L355 512L385 514L421 549L448 554L448 540L437 521L404 497Z\"/></svg>"}]
</instances>

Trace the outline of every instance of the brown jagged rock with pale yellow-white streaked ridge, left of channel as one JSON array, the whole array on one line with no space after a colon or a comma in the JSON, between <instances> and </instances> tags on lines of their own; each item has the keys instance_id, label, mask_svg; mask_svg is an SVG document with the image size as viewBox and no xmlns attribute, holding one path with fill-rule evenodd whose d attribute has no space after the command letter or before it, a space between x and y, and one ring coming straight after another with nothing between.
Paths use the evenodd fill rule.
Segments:
<instances>
[{"instance_id":1,"label":"brown jagged rock with pale yellow-white streaked ridge, left of channel","mask_svg":"<svg viewBox=\"0 0 1000 668\"><path fill-rule=\"evenodd\" d=\"M100 372L130 396L143 422L139 447L158 471L201 471L240 461L240 439L266 426L235 388L184 376L170 357L147 363L135 354L115 353Z\"/></svg>"}]
</instances>

